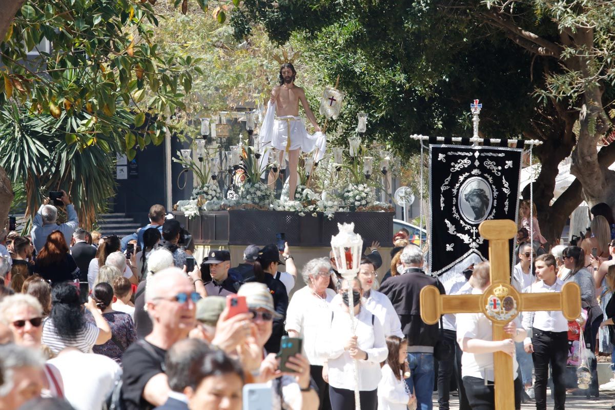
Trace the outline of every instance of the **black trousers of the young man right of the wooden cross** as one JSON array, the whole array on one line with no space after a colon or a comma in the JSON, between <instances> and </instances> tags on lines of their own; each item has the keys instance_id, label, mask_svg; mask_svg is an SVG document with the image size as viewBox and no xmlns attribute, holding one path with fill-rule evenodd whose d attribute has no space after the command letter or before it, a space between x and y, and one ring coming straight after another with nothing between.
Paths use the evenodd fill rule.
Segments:
<instances>
[{"instance_id":1,"label":"black trousers of the young man right of the wooden cross","mask_svg":"<svg viewBox=\"0 0 615 410\"><path fill-rule=\"evenodd\" d=\"M546 332L534 328L532 336L534 353L534 394L536 395L536 410L547 410L547 380L549 379L549 364L551 365L554 410L564 410L566 403L566 360L568 360L568 333Z\"/></svg>"}]
</instances>

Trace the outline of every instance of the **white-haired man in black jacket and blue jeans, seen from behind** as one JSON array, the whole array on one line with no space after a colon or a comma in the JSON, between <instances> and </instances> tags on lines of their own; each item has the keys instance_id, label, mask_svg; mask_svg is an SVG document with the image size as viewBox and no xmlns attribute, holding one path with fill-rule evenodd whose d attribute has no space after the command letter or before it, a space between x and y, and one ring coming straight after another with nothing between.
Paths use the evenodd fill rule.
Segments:
<instances>
[{"instance_id":1,"label":"white-haired man in black jacket and blue jeans, seen from behind","mask_svg":"<svg viewBox=\"0 0 615 410\"><path fill-rule=\"evenodd\" d=\"M400 258L403 274L392 276L379 291L391 299L402 322L402 331L408 340L408 363L412 376L406 380L416 396L417 408L431 410L434 391L434 346L438 341L438 325L426 325L421 319L419 295L425 286L436 286L444 294L444 286L437 278L423 271L423 252L410 244L403 248Z\"/></svg>"}]
</instances>

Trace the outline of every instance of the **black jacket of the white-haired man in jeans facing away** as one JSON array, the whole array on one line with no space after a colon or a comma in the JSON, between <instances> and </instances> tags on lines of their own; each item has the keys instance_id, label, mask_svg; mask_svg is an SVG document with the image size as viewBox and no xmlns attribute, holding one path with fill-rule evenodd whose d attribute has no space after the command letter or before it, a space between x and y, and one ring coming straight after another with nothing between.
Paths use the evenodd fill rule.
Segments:
<instances>
[{"instance_id":1,"label":"black jacket of the white-haired man in jeans facing away","mask_svg":"<svg viewBox=\"0 0 615 410\"><path fill-rule=\"evenodd\" d=\"M388 278L378 289L391 300L395 312L399 315L408 346L434 347L438 341L438 324L426 325L421 319L419 294L428 285L436 286L440 294L445 294L444 286L439 280L426 275L418 267L411 267L403 275Z\"/></svg>"}]
</instances>

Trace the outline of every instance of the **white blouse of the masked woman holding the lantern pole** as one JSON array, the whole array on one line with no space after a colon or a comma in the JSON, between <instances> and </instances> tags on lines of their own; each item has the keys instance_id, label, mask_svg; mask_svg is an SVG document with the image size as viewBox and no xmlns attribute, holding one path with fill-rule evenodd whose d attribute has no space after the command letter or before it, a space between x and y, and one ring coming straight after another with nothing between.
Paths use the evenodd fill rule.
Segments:
<instances>
[{"instance_id":1,"label":"white blouse of the masked woman holding the lantern pole","mask_svg":"<svg viewBox=\"0 0 615 410\"><path fill-rule=\"evenodd\" d=\"M333 318L326 336L319 337L317 341L317 353L328 360L329 384L335 388L354 390L354 361L350 353L344 350L344 345L352 335L352 322L344 308L341 304L335 304L335 301L331 302ZM359 390L370 392L378 388L380 363L386 360L388 349L383 326L373 313L362 305L356 318L357 345L368 355L367 360L358 361Z\"/></svg>"}]
</instances>

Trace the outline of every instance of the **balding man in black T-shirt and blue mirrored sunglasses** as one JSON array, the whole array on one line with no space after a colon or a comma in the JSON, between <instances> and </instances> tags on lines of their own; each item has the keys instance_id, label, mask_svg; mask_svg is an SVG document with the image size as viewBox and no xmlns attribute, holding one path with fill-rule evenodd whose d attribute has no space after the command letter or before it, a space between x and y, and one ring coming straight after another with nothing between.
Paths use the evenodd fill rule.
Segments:
<instances>
[{"instance_id":1,"label":"balding man in black T-shirt and blue mirrored sunglasses","mask_svg":"<svg viewBox=\"0 0 615 410\"><path fill-rule=\"evenodd\" d=\"M181 269L167 268L148 278L145 303L154 326L122 357L122 397L127 410L149 410L167 401L170 388L164 373L165 354L194 328L199 299Z\"/></svg>"}]
</instances>

